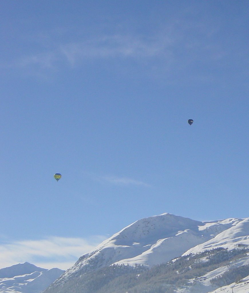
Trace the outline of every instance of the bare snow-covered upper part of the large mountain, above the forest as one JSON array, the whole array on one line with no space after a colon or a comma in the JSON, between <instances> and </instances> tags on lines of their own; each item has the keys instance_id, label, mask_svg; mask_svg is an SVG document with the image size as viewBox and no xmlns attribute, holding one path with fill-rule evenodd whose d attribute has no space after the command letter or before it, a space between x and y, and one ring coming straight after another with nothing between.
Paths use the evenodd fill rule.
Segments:
<instances>
[{"instance_id":1,"label":"bare snow-covered upper part of the large mountain, above the forest","mask_svg":"<svg viewBox=\"0 0 249 293\"><path fill-rule=\"evenodd\" d=\"M200 222L165 213L138 220L103 241L51 287L59 288L74 276L112 264L150 267L186 253L235 246L249 246L249 218Z\"/></svg>"}]
</instances>

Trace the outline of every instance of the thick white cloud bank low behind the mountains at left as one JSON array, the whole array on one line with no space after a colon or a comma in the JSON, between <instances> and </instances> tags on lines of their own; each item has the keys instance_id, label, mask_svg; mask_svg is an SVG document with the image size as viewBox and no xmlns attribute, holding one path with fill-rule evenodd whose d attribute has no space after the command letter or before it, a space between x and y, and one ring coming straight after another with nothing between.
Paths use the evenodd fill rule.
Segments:
<instances>
[{"instance_id":1,"label":"thick white cloud bank low behind the mountains at left","mask_svg":"<svg viewBox=\"0 0 249 293\"><path fill-rule=\"evenodd\" d=\"M68 269L81 255L94 249L106 236L88 239L48 237L40 240L20 240L0 243L0 268L29 262L43 268Z\"/></svg>"}]
</instances>

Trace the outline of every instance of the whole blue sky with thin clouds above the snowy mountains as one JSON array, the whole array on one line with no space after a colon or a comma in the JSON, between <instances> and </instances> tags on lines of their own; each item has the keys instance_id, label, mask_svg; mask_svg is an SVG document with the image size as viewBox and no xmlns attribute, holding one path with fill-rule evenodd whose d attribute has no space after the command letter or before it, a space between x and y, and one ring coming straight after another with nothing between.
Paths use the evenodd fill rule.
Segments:
<instances>
[{"instance_id":1,"label":"whole blue sky with thin clouds above the snowy mountains","mask_svg":"<svg viewBox=\"0 0 249 293\"><path fill-rule=\"evenodd\" d=\"M0 11L0 267L65 269L164 212L249 217L248 1Z\"/></svg>"}]
</instances>

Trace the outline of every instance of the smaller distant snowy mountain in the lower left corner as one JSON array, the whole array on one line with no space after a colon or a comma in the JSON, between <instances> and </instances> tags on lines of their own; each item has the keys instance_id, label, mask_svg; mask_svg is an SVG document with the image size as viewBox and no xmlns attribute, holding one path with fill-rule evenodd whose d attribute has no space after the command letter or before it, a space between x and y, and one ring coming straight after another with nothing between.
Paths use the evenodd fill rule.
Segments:
<instances>
[{"instance_id":1,"label":"smaller distant snowy mountain in the lower left corner","mask_svg":"<svg viewBox=\"0 0 249 293\"><path fill-rule=\"evenodd\" d=\"M0 293L40 293L64 271L19 263L0 270Z\"/></svg>"}]
</instances>

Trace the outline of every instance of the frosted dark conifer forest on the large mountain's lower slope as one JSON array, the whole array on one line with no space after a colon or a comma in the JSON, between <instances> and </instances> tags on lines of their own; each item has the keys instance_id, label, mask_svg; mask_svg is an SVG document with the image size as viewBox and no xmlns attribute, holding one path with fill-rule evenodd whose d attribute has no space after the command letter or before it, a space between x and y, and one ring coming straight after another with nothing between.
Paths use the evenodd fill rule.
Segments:
<instances>
[{"instance_id":1,"label":"frosted dark conifer forest on the large mountain's lower slope","mask_svg":"<svg viewBox=\"0 0 249 293\"><path fill-rule=\"evenodd\" d=\"M249 249L228 251L216 248L182 256L150 269L142 265L112 265L78 275L59 287L51 286L45 293L172 293L176 288L189 286L189 279L201 277L216 268L229 265L231 261L247 256L247 252ZM230 283L245 275L247 270L248 268L241 268L230 272L233 276ZM225 284L229 282L229 277L227 272L227 275L214 280L214 284Z\"/></svg>"}]
</instances>

